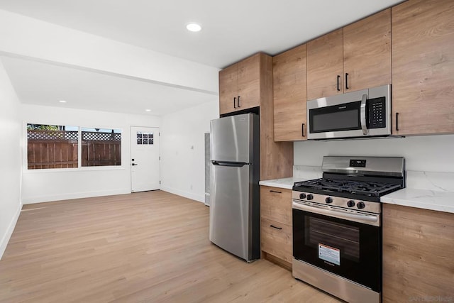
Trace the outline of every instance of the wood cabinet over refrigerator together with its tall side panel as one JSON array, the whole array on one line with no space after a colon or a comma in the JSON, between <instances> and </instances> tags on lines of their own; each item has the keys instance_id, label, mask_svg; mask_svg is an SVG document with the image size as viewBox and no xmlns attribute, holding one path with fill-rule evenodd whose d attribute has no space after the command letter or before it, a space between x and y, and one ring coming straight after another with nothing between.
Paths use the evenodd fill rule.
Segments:
<instances>
[{"instance_id":1,"label":"wood cabinet over refrigerator together with its tall side panel","mask_svg":"<svg viewBox=\"0 0 454 303\"><path fill-rule=\"evenodd\" d=\"M293 143L273 140L272 57L257 53L219 72L219 114L260 106L260 180L291 177Z\"/></svg>"}]
</instances>

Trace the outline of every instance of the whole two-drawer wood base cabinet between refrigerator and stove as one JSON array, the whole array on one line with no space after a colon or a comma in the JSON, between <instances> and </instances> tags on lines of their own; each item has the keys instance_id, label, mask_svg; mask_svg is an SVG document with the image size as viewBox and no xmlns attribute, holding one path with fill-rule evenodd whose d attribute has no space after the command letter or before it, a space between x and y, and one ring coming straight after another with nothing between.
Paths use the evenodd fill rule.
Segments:
<instances>
[{"instance_id":1,"label":"whole two-drawer wood base cabinet between refrigerator and stove","mask_svg":"<svg viewBox=\"0 0 454 303\"><path fill-rule=\"evenodd\" d=\"M260 248L262 257L292 268L292 191L260 187Z\"/></svg>"}]
</instances>

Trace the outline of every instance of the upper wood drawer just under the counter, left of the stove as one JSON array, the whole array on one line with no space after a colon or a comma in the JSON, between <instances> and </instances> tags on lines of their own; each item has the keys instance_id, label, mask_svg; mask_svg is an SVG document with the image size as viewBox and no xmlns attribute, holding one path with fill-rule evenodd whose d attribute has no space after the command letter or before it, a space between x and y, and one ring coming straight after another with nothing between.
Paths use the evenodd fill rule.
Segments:
<instances>
[{"instance_id":1,"label":"upper wood drawer just under the counter, left of the stove","mask_svg":"<svg viewBox=\"0 0 454 303\"><path fill-rule=\"evenodd\" d=\"M260 187L260 216L292 225L292 191L278 187Z\"/></svg>"}]
</instances>

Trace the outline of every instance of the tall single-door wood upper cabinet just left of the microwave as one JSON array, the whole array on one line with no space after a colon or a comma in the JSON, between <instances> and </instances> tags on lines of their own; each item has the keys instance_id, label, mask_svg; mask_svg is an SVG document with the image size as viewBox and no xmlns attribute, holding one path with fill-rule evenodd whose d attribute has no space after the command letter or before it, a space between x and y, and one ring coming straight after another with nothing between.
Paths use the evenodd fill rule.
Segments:
<instances>
[{"instance_id":1,"label":"tall single-door wood upper cabinet just left of the microwave","mask_svg":"<svg viewBox=\"0 0 454 303\"><path fill-rule=\"evenodd\" d=\"M275 141L306 139L306 45L273 57Z\"/></svg>"}]
</instances>

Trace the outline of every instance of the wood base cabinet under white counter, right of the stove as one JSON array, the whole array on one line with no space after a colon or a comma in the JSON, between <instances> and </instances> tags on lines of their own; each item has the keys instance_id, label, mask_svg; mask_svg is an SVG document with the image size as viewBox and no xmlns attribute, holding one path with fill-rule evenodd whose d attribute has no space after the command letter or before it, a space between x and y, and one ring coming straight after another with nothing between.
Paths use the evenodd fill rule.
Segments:
<instances>
[{"instance_id":1,"label":"wood base cabinet under white counter, right of the stove","mask_svg":"<svg viewBox=\"0 0 454 303\"><path fill-rule=\"evenodd\" d=\"M382 222L383 302L452 300L454 214L383 204Z\"/></svg>"}]
</instances>

